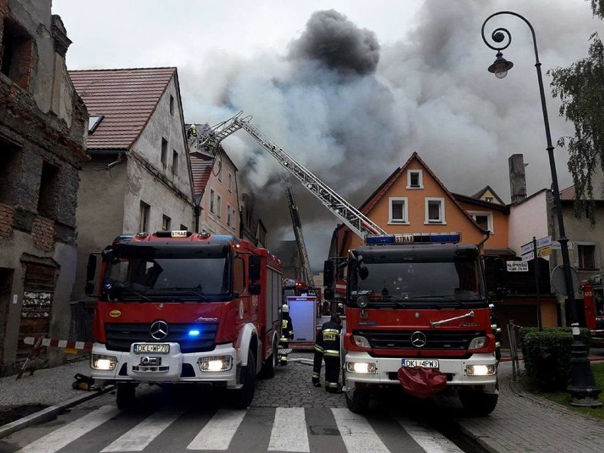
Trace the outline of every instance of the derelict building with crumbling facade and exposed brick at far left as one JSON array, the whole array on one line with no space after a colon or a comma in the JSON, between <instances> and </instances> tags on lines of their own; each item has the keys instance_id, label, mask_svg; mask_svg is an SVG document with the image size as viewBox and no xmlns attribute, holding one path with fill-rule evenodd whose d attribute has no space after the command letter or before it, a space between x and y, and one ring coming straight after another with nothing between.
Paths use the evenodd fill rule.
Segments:
<instances>
[{"instance_id":1,"label":"derelict building with crumbling facade and exposed brick at far left","mask_svg":"<svg viewBox=\"0 0 604 453\"><path fill-rule=\"evenodd\" d=\"M0 0L0 373L23 337L67 339L76 269L86 107L67 73L71 44L50 0ZM62 359L51 350L51 365Z\"/></svg>"}]
</instances>

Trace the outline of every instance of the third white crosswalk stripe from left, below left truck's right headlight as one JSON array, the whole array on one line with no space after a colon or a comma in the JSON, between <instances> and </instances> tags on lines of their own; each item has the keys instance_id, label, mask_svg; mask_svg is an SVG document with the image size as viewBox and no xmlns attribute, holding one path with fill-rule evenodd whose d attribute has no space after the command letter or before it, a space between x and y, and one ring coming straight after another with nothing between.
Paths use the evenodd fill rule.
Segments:
<instances>
[{"instance_id":1,"label":"third white crosswalk stripe from left, below left truck's right headlight","mask_svg":"<svg viewBox=\"0 0 604 453\"><path fill-rule=\"evenodd\" d=\"M247 410L220 409L186 449L227 450Z\"/></svg>"}]
</instances>

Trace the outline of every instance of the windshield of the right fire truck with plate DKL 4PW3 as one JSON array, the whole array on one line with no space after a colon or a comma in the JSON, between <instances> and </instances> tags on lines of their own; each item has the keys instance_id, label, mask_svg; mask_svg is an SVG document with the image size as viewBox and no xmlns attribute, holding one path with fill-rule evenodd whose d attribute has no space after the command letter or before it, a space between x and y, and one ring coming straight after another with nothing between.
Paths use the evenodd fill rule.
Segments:
<instances>
[{"instance_id":1,"label":"windshield of the right fire truck with plate DKL 4PW3","mask_svg":"<svg viewBox=\"0 0 604 453\"><path fill-rule=\"evenodd\" d=\"M474 254L405 261L366 253L349 266L349 300L367 296L370 305L483 305L481 272L479 257Z\"/></svg>"}]
</instances>

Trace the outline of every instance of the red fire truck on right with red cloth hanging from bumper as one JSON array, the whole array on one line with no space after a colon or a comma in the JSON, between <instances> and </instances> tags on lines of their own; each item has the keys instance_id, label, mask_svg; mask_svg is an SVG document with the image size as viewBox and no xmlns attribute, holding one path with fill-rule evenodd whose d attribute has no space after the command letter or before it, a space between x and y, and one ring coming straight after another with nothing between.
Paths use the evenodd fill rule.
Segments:
<instances>
[{"instance_id":1,"label":"red fire truck on right with red cloth hanging from bumper","mask_svg":"<svg viewBox=\"0 0 604 453\"><path fill-rule=\"evenodd\" d=\"M498 400L496 339L483 263L460 233L367 236L346 263L343 391L367 410L380 386L425 397L457 388L466 410L491 413ZM325 262L325 286L334 280Z\"/></svg>"}]
</instances>

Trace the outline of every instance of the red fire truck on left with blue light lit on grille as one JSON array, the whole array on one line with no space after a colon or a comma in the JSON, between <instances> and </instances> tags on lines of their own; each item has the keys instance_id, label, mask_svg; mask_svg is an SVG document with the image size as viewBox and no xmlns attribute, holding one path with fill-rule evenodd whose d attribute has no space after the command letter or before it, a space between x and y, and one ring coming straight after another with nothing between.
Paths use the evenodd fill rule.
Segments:
<instances>
[{"instance_id":1,"label":"red fire truck on left with blue light lit on grille","mask_svg":"<svg viewBox=\"0 0 604 453\"><path fill-rule=\"evenodd\" d=\"M120 408L138 384L207 384L245 408L259 371L274 375L279 259L230 235L158 231L119 236L91 255L86 293L94 315L92 377L117 384Z\"/></svg>"}]
</instances>

